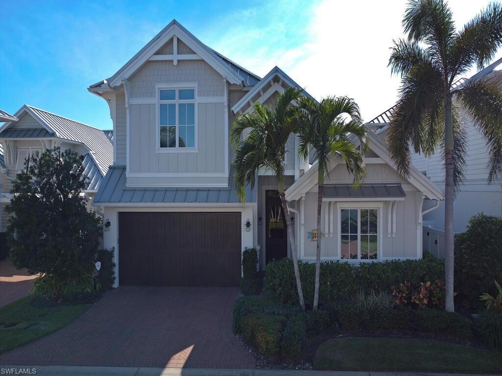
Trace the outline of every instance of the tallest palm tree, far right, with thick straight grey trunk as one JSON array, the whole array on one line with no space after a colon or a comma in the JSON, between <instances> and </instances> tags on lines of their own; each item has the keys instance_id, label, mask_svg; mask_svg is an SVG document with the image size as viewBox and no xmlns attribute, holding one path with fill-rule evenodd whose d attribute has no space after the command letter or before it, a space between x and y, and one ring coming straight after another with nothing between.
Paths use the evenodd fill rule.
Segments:
<instances>
[{"instance_id":1,"label":"tallest palm tree, far right, with thick straight grey trunk","mask_svg":"<svg viewBox=\"0 0 502 376\"><path fill-rule=\"evenodd\" d=\"M453 200L464 170L465 131L452 97L473 119L490 150L491 182L502 173L502 88L489 80L469 80L452 88L474 64L487 65L502 45L502 8L494 3L460 31L442 0L412 0L403 27L407 40L394 42L389 65L402 76L388 143L400 173L410 171L411 147L430 155L441 147L445 163L446 310L453 306Z\"/></svg>"}]
</instances>

